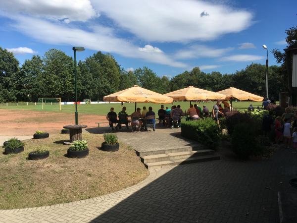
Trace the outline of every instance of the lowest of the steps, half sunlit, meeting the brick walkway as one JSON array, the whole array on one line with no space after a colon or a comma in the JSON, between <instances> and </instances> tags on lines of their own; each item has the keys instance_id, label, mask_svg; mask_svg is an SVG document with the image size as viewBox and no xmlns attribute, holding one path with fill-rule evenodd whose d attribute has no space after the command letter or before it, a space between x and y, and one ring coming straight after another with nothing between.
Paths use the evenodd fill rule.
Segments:
<instances>
[{"instance_id":1,"label":"lowest of the steps, half sunlit, meeting the brick walkway","mask_svg":"<svg viewBox=\"0 0 297 223\"><path fill-rule=\"evenodd\" d=\"M145 164L145 166L148 169L157 169L162 167L177 166L181 164L198 163L198 162L220 160L220 159L221 159L220 156L217 156L217 155L205 155L205 156L195 156L195 157L176 159L176 160L152 162L152 163Z\"/></svg>"}]
</instances>

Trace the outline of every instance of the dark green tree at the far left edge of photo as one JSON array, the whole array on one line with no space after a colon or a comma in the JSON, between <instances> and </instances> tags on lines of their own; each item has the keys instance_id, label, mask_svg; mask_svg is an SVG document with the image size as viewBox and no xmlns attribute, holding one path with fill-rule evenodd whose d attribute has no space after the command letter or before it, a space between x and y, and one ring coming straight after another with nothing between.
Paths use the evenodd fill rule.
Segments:
<instances>
[{"instance_id":1,"label":"dark green tree at the far left edge of photo","mask_svg":"<svg viewBox=\"0 0 297 223\"><path fill-rule=\"evenodd\" d=\"M19 61L0 47L0 102L17 101L19 95Z\"/></svg>"}]
</instances>

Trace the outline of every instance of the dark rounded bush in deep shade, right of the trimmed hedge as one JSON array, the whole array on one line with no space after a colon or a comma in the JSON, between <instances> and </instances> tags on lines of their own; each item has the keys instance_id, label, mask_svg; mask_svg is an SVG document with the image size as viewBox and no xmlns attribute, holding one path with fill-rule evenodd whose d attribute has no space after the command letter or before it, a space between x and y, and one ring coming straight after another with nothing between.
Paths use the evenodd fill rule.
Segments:
<instances>
[{"instance_id":1,"label":"dark rounded bush in deep shade, right of the trimmed hedge","mask_svg":"<svg viewBox=\"0 0 297 223\"><path fill-rule=\"evenodd\" d=\"M232 151L241 159L250 156L260 156L266 153L270 146L269 138L257 135L249 123L238 123L232 134Z\"/></svg>"}]
</instances>

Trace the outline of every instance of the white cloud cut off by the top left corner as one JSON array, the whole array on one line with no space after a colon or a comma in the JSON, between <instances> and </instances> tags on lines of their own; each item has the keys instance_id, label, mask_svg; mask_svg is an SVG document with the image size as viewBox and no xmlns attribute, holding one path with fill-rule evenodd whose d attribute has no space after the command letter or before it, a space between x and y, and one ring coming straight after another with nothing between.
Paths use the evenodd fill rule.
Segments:
<instances>
[{"instance_id":1,"label":"white cloud cut off by the top left corner","mask_svg":"<svg viewBox=\"0 0 297 223\"><path fill-rule=\"evenodd\" d=\"M21 13L48 19L87 21L97 16L90 0L1 0L0 8L9 13Z\"/></svg>"}]
</instances>

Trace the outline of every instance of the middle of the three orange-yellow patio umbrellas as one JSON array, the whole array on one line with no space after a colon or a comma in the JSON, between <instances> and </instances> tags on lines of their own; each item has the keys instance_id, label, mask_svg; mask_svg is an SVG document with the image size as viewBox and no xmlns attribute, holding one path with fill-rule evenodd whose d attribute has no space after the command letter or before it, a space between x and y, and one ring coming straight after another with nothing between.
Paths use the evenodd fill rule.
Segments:
<instances>
[{"instance_id":1,"label":"middle of the three orange-yellow patio umbrellas","mask_svg":"<svg viewBox=\"0 0 297 223\"><path fill-rule=\"evenodd\" d=\"M174 101L196 101L196 100L225 100L226 95L215 93L212 91L206 91L203 89L189 86L177 91L164 94L173 98Z\"/></svg>"}]
</instances>

